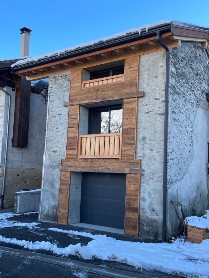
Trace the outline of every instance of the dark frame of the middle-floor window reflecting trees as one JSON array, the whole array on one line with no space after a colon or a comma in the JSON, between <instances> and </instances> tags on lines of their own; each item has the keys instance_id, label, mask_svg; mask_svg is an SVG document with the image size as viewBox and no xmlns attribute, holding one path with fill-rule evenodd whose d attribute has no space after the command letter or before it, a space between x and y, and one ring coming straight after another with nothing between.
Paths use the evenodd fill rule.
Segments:
<instances>
[{"instance_id":1,"label":"dark frame of the middle-floor window reflecting trees","mask_svg":"<svg viewBox=\"0 0 209 278\"><path fill-rule=\"evenodd\" d=\"M110 114L113 110L123 110L123 104L115 104L115 105L108 105L108 106L100 106L100 107L93 107L89 108L89 121L88 121L88 134L94 134L92 132L92 120L93 120L93 112L100 111L100 112L108 112L109 111L109 124L108 124L108 133L110 133Z\"/></svg>"}]
</instances>

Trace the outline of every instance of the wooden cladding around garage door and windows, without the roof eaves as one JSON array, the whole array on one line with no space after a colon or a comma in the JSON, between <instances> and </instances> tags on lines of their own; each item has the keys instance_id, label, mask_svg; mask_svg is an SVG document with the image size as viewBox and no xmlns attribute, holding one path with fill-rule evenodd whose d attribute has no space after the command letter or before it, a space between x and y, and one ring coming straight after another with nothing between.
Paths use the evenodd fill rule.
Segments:
<instances>
[{"instance_id":1,"label":"wooden cladding around garage door and windows, without the roof eaves","mask_svg":"<svg viewBox=\"0 0 209 278\"><path fill-rule=\"evenodd\" d=\"M111 82L94 85L94 80L88 87L84 87L82 82L82 68L71 71L70 98L69 103L65 103L69 106L67 146L66 159L62 159L60 167L58 223L67 224L68 221L71 172L126 173L124 233L138 236L141 160L135 159L135 145L137 101L139 96L143 96L143 92L137 92L138 67L138 55L127 57L120 81L113 82L112 76ZM122 133L79 135L80 105L95 103L95 99L104 96L107 100L122 99Z\"/></svg>"}]
</instances>

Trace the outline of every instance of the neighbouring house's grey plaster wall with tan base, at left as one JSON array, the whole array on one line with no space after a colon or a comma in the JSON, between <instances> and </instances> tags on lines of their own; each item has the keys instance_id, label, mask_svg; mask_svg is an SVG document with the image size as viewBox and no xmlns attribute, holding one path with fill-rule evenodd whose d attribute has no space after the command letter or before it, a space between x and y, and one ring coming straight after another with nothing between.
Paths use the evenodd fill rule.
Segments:
<instances>
[{"instance_id":1,"label":"neighbouring house's grey plaster wall with tan base, at left","mask_svg":"<svg viewBox=\"0 0 209 278\"><path fill-rule=\"evenodd\" d=\"M5 179L4 208L14 206L15 191L41 188L42 162L46 127L46 105L42 97L31 93L28 147L12 147L15 110L15 91L5 87L11 94L11 109L7 149L7 170ZM5 158L8 96L0 91L0 192Z\"/></svg>"}]
</instances>

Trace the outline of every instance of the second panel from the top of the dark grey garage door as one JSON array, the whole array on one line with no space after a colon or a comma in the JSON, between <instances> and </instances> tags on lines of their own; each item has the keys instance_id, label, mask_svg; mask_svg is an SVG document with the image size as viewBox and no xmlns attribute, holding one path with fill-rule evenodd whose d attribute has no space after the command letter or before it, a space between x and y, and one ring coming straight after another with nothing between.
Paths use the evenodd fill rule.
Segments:
<instances>
[{"instance_id":1,"label":"second panel from the top of the dark grey garage door","mask_svg":"<svg viewBox=\"0 0 209 278\"><path fill-rule=\"evenodd\" d=\"M81 197L97 198L97 199L110 199L110 200L124 200L125 187L122 186L109 186L109 185L83 185Z\"/></svg>"}]
</instances>

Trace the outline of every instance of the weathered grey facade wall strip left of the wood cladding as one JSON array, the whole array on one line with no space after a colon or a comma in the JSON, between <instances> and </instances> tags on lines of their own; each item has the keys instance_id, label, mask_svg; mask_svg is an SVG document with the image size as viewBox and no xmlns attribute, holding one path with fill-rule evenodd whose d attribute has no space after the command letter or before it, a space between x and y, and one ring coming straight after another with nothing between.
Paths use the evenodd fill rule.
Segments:
<instances>
[{"instance_id":1,"label":"weathered grey facade wall strip left of the wood cladding","mask_svg":"<svg viewBox=\"0 0 209 278\"><path fill-rule=\"evenodd\" d=\"M65 158L67 142L68 107L70 73L50 76L49 78L49 120L44 166L44 184L41 198L40 221L56 222L59 197L59 166Z\"/></svg>"}]
</instances>

